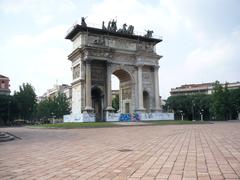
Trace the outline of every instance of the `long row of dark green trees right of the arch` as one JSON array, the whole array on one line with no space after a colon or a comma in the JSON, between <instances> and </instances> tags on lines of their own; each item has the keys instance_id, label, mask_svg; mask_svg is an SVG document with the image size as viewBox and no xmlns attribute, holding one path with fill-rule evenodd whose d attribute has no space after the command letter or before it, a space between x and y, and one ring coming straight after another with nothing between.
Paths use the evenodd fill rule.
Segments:
<instances>
[{"instance_id":1,"label":"long row of dark green trees right of the arch","mask_svg":"<svg viewBox=\"0 0 240 180\"><path fill-rule=\"evenodd\" d=\"M170 96L166 106L175 112L175 118L181 118L181 111L186 119L200 119L200 113L206 120L237 119L240 113L240 88L230 89L228 83L223 87L215 82L212 95L197 94Z\"/></svg>"}]
</instances>

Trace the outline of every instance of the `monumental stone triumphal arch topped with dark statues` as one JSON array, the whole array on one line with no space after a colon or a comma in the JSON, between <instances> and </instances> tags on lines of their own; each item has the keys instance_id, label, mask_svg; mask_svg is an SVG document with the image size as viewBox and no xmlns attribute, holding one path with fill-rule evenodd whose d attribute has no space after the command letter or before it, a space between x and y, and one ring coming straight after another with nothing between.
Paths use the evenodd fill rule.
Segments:
<instances>
[{"instance_id":1,"label":"monumental stone triumphal arch topped with dark statues","mask_svg":"<svg viewBox=\"0 0 240 180\"><path fill-rule=\"evenodd\" d=\"M114 110L112 74L120 81L120 113L161 111L158 61L162 56L156 53L156 45L162 40L153 38L152 33L135 35L134 27L126 24L117 29L114 20L108 26L103 22L101 29L88 27L84 18L68 31L65 38L73 42L68 56L73 77L72 114L68 118L109 120Z\"/></svg>"}]
</instances>

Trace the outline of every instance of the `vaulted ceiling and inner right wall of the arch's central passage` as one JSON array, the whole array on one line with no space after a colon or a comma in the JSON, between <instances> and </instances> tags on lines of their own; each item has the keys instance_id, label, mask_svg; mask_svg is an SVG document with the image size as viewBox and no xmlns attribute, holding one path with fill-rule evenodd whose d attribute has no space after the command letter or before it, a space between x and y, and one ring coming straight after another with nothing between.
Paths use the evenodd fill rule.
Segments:
<instances>
[{"instance_id":1,"label":"vaulted ceiling and inner right wall of the arch's central passage","mask_svg":"<svg viewBox=\"0 0 240 180\"><path fill-rule=\"evenodd\" d=\"M124 69L116 69L112 72L119 79L119 111L121 113L131 113L132 108L132 77Z\"/></svg>"}]
</instances>

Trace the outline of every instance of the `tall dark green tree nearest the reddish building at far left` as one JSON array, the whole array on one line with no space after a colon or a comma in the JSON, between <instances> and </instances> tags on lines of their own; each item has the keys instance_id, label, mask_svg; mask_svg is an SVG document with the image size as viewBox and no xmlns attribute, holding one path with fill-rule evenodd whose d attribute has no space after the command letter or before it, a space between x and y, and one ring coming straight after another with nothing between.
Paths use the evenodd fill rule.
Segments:
<instances>
[{"instance_id":1,"label":"tall dark green tree nearest the reddish building at far left","mask_svg":"<svg viewBox=\"0 0 240 180\"><path fill-rule=\"evenodd\" d=\"M31 84L23 83L19 91L14 93L19 109L19 117L32 120L36 110L37 96Z\"/></svg>"}]
</instances>

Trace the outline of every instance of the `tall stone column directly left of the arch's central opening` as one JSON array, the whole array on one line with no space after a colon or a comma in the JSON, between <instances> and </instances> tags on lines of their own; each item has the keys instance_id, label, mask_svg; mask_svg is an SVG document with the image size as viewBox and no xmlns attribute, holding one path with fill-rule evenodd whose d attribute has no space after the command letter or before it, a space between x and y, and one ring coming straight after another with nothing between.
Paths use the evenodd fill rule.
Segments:
<instances>
[{"instance_id":1,"label":"tall stone column directly left of the arch's central opening","mask_svg":"<svg viewBox=\"0 0 240 180\"><path fill-rule=\"evenodd\" d=\"M112 64L107 63L107 111L113 111L112 107L112 84L111 84L111 75L112 75Z\"/></svg>"}]
</instances>

